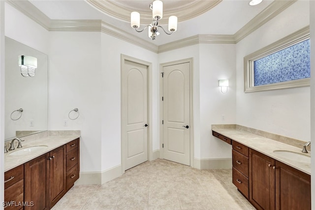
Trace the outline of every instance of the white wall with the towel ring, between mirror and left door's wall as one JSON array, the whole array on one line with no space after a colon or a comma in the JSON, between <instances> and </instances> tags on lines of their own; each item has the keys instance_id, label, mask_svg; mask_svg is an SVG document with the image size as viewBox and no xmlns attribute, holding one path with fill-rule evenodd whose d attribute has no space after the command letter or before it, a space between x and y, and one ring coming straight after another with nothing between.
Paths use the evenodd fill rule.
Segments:
<instances>
[{"instance_id":1,"label":"white wall with the towel ring, between mirror and left door's wall","mask_svg":"<svg viewBox=\"0 0 315 210\"><path fill-rule=\"evenodd\" d=\"M49 130L81 130L80 170L101 171L100 32L50 32ZM77 120L68 113L79 109ZM67 120L68 126L63 126Z\"/></svg>"}]
</instances>

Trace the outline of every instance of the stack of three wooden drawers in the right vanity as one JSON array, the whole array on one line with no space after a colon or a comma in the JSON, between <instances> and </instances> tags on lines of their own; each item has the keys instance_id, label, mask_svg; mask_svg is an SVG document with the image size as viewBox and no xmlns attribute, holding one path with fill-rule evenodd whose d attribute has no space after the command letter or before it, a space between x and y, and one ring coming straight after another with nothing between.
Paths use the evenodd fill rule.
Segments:
<instances>
[{"instance_id":1,"label":"stack of three wooden drawers in the right vanity","mask_svg":"<svg viewBox=\"0 0 315 210\"><path fill-rule=\"evenodd\" d=\"M232 183L248 199L249 198L249 157L248 147L232 142Z\"/></svg>"}]
</instances>

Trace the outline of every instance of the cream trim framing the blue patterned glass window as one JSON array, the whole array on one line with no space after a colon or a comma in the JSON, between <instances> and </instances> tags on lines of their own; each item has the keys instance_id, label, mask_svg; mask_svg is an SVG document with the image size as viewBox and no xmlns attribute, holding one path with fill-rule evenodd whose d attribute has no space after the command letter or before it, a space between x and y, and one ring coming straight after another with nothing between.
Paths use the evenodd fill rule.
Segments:
<instances>
[{"instance_id":1,"label":"cream trim framing the blue patterned glass window","mask_svg":"<svg viewBox=\"0 0 315 210\"><path fill-rule=\"evenodd\" d=\"M255 60L261 59L278 51L281 51L285 48L288 48L292 45L300 43L310 38L310 26L304 27L301 30L298 30L294 33L291 33L288 36L276 41L260 50L253 52L252 54L244 57L244 92L255 92L263 90L277 90L284 88L295 88L310 86L311 79L299 79L291 80L280 83L273 83L261 86L254 86L254 75L253 75L253 63Z\"/></svg>"}]
</instances>

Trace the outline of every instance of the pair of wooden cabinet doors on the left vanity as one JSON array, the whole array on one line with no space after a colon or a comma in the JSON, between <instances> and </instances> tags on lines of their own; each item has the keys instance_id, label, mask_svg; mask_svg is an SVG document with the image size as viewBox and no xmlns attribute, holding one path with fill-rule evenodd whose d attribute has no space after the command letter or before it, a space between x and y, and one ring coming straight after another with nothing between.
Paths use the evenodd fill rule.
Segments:
<instances>
[{"instance_id":1,"label":"pair of wooden cabinet doors on the left vanity","mask_svg":"<svg viewBox=\"0 0 315 210\"><path fill-rule=\"evenodd\" d=\"M25 163L25 201L33 207L51 209L65 194L65 146Z\"/></svg>"}]
</instances>

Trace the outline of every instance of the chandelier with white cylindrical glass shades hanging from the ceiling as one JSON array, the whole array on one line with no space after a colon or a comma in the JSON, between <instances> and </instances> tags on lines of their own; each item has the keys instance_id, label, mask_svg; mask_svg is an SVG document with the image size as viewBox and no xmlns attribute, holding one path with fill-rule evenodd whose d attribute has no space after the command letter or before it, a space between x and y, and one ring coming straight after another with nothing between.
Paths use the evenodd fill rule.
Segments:
<instances>
[{"instance_id":1,"label":"chandelier with white cylindrical glass shades hanging from the ceiling","mask_svg":"<svg viewBox=\"0 0 315 210\"><path fill-rule=\"evenodd\" d=\"M158 20L162 19L163 17L163 2L161 0L155 0L153 3L150 4L150 9L152 9L152 23L147 25L143 30L137 30L140 27L140 13L139 12L131 12L130 15L130 23L131 27L134 28L137 32L142 32L146 28L148 28L148 36L149 38L152 38L152 40L155 40L157 35L159 34L158 28L163 27L158 26ZM168 18L168 30L170 33L164 32L168 35L172 34L174 31L177 30L177 17L176 16L170 16Z\"/></svg>"}]
</instances>

